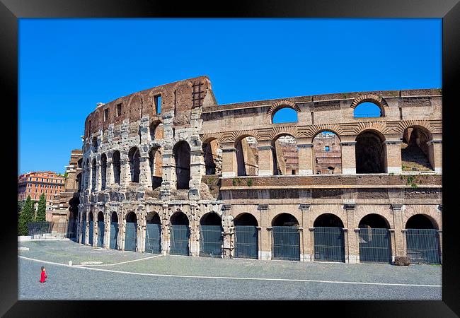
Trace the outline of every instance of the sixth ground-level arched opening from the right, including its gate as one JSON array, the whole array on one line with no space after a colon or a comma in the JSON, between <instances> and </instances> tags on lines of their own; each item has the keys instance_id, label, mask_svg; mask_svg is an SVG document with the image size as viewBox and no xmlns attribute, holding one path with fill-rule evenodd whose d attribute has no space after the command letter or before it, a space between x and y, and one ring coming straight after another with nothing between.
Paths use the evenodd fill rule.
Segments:
<instances>
[{"instance_id":1,"label":"sixth ground-level arched opening from the right, including its gate","mask_svg":"<svg viewBox=\"0 0 460 318\"><path fill-rule=\"evenodd\" d=\"M222 257L222 218L206 213L200 219L200 256Z\"/></svg>"}]
</instances>

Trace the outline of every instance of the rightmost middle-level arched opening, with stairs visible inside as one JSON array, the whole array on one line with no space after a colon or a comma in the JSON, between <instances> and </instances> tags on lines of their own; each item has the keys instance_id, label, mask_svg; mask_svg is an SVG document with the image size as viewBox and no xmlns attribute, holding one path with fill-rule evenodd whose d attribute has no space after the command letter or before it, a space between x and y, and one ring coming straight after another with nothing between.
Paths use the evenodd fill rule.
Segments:
<instances>
[{"instance_id":1,"label":"rightmost middle-level arched opening, with stairs visible inside","mask_svg":"<svg viewBox=\"0 0 460 318\"><path fill-rule=\"evenodd\" d=\"M429 133L418 128L409 127L403 132L401 143L401 163L403 171L432 171L427 141Z\"/></svg>"}]
</instances>

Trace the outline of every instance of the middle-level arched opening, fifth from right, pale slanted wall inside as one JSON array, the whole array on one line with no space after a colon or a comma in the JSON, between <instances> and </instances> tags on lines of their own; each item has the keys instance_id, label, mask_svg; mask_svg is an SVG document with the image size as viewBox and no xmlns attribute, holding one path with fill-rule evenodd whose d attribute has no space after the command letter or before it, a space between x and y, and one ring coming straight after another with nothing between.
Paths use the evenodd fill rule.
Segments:
<instances>
[{"instance_id":1,"label":"middle-level arched opening, fifth from right, pale slanted wall inside","mask_svg":"<svg viewBox=\"0 0 460 318\"><path fill-rule=\"evenodd\" d=\"M258 175L259 153L257 146L257 140L252 136L247 136L236 141L235 148L238 175Z\"/></svg>"}]
</instances>

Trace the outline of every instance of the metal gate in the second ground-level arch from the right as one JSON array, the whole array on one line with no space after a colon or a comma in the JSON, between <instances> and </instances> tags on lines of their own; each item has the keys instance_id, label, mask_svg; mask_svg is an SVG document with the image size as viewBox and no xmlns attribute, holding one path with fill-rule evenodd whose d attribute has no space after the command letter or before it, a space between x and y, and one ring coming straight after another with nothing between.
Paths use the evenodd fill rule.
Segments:
<instances>
[{"instance_id":1,"label":"metal gate in the second ground-level arch from the right","mask_svg":"<svg viewBox=\"0 0 460 318\"><path fill-rule=\"evenodd\" d=\"M388 229L360 229L360 261L391 262L390 232Z\"/></svg>"}]
</instances>

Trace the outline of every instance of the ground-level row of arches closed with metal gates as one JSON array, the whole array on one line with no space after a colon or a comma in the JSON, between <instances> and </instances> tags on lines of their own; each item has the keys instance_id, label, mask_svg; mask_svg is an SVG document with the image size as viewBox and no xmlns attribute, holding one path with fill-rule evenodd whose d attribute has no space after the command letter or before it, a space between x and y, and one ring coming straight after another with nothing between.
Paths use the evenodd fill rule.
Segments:
<instances>
[{"instance_id":1,"label":"ground-level row of arches closed with metal gates","mask_svg":"<svg viewBox=\"0 0 460 318\"><path fill-rule=\"evenodd\" d=\"M86 225L85 215L82 221ZM169 220L169 254L190 254L190 224L185 213L173 213ZM96 246L104 246L103 213L98 213L98 235ZM88 244L93 245L93 214L88 214ZM241 213L234 218L234 257L258 259L259 225L250 213ZM290 213L280 213L273 218L271 227L272 259L299 261L301 238L299 221ZM82 229L82 243L85 244L86 226ZM110 218L110 249L118 249L118 218ZM362 262L392 261L389 222L375 213L364 216L359 223L359 251ZM124 249L137 250L137 216L128 213L125 225ZM146 216L144 251L159 254L162 247L162 227L158 213ZM200 256L222 257L223 227L217 213L206 213L200 218ZM416 214L406 222L407 254L413 262L439 264L439 237L437 225L430 217ZM314 260L345 261L344 225L338 216L324 213L314 220Z\"/></svg>"}]
</instances>

